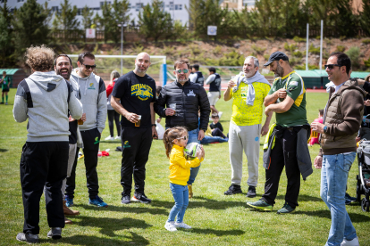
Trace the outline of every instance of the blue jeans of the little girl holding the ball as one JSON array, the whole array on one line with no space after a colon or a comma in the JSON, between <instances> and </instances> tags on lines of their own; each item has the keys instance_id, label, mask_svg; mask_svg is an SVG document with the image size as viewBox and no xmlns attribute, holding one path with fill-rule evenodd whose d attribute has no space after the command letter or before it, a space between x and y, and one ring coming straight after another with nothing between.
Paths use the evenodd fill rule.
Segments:
<instances>
[{"instance_id":1,"label":"blue jeans of the little girl holding the ball","mask_svg":"<svg viewBox=\"0 0 370 246\"><path fill-rule=\"evenodd\" d=\"M176 222L181 223L184 218L186 208L188 208L189 204L188 185L170 183L170 188L175 205L173 205L167 221L174 221L175 217L177 216Z\"/></svg>"}]
</instances>

